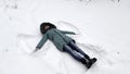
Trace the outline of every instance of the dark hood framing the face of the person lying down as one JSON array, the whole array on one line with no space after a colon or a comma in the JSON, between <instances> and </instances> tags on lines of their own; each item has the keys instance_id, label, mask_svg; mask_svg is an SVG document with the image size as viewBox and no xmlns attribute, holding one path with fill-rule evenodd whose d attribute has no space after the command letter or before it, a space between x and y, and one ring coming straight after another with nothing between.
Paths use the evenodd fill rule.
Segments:
<instances>
[{"instance_id":1,"label":"dark hood framing the face of the person lying down","mask_svg":"<svg viewBox=\"0 0 130 74\"><path fill-rule=\"evenodd\" d=\"M44 29L46 26L50 26L48 29ZM51 24L51 23L41 23L40 25L40 32L41 34L44 34L47 33L47 30L51 29L51 28L56 28L56 26L54 24Z\"/></svg>"}]
</instances>

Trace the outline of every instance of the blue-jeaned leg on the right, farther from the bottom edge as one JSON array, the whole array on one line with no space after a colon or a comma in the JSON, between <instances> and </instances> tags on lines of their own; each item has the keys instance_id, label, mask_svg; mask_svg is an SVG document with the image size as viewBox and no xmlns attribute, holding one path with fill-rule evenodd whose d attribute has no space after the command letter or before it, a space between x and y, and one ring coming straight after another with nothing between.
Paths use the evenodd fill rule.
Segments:
<instances>
[{"instance_id":1,"label":"blue-jeaned leg on the right, farther from the bottom edge","mask_svg":"<svg viewBox=\"0 0 130 74\"><path fill-rule=\"evenodd\" d=\"M84 55L87 59L90 59L87 53L84 53L74 41L70 41L68 46L73 49L79 52L80 54Z\"/></svg>"}]
</instances>

